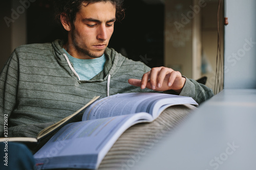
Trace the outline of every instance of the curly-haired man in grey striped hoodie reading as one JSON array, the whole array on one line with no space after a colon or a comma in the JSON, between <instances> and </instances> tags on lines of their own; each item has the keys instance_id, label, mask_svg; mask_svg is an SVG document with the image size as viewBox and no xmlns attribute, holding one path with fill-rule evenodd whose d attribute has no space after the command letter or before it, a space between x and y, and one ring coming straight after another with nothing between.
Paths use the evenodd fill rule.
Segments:
<instances>
[{"instance_id":1,"label":"curly-haired man in grey striped hoodie reading","mask_svg":"<svg viewBox=\"0 0 256 170\"><path fill-rule=\"evenodd\" d=\"M198 103L213 95L178 71L151 69L108 48L114 23L123 15L121 1L58 1L56 11L67 40L22 45L1 72L2 137L4 115L8 137L36 137L95 95L164 91L191 96Z\"/></svg>"}]
</instances>

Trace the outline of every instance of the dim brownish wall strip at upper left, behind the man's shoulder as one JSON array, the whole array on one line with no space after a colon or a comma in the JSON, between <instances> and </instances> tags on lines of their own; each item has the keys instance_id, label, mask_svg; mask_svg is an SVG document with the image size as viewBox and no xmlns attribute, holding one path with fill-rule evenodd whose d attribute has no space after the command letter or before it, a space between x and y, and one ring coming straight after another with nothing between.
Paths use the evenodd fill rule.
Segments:
<instances>
[{"instance_id":1,"label":"dim brownish wall strip at upper left, behind the man's shoulder","mask_svg":"<svg viewBox=\"0 0 256 170\"><path fill-rule=\"evenodd\" d=\"M1 5L1 38L0 49L0 68L2 69L5 62L13 50L27 42L26 31L26 9L29 4L20 4L19 1L3 1Z\"/></svg>"}]
</instances>

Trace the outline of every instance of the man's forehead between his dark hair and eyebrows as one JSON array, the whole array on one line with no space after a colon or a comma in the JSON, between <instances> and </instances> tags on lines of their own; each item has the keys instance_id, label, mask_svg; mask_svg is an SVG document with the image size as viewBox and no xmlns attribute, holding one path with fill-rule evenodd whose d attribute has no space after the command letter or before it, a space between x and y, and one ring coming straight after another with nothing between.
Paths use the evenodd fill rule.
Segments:
<instances>
[{"instance_id":1,"label":"man's forehead between his dark hair and eyebrows","mask_svg":"<svg viewBox=\"0 0 256 170\"><path fill-rule=\"evenodd\" d=\"M83 3L80 11L77 13L79 18L94 18L99 20L108 20L115 18L116 6L111 2L99 2L99 3Z\"/></svg>"}]
</instances>

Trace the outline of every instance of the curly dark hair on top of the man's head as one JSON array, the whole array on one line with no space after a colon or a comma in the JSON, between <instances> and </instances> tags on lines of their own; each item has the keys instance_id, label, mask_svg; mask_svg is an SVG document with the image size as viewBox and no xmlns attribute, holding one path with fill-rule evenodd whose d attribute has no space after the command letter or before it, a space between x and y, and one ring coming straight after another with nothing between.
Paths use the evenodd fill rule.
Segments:
<instances>
[{"instance_id":1,"label":"curly dark hair on top of the man's head","mask_svg":"<svg viewBox=\"0 0 256 170\"><path fill-rule=\"evenodd\" d=\"M55 20L60 23L60 15L65 13L68 20L73 23L83 3L89 5L98 2L111 2L116 6L116 20L121 21L124 18L123 0L53 0Z\"/></svg>"}]
</instances>

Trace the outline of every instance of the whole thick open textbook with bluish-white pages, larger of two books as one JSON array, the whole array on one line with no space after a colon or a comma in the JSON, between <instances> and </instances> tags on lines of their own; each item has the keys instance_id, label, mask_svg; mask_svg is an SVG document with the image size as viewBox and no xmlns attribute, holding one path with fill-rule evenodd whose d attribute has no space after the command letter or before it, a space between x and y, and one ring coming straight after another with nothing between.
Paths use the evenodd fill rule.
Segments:
<instances>
[{"instance_id":1,"label":"whole thick open textbook with bluish-white pages, larger of two books","mask_svg":"<svg viewBox=\"0 0 256 170\"><path fill-rule=\"evenodd\" d=\"M100 99L82 121L62 127L34 158L38 169L98 168L119 136L129 127L152 122L169 106L198 105L192 98L163 93L124 93Z\"/></svg>"}]
</instances>

